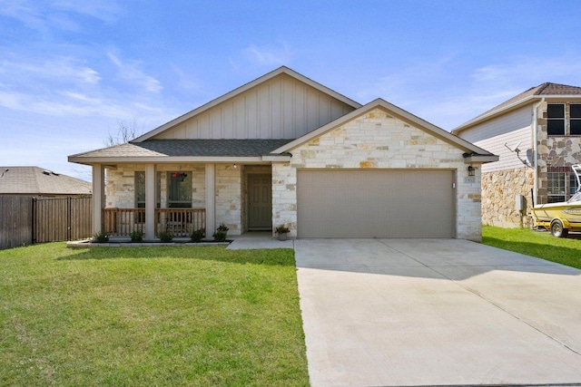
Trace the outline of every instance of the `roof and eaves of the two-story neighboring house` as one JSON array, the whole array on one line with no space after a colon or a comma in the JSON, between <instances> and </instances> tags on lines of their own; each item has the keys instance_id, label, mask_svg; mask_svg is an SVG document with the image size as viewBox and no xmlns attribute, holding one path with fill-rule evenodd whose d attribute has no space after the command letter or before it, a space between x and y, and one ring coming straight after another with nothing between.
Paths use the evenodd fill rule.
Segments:
<instances>
[{"instance_id":1,"label":"roof and eaves of the two-story neighboring house","mask_svg":"<svg viewBox=\"0 0 581 387\"><path fill-rule=\"evenodd\" d=\"M520 94L508 99L507 101L500 103L494 108L483 112L470 121L463 123L462 125L458 126L458 128L454 129L452 133L458 134L460 131L468 129L475 123L488 120L497 116L498 114L515 109L534 100L559 97L581 98L581 87L551 82L541 83L538 86L531 87L527 91L521 92Z\"/></svg>"}]
</instances>

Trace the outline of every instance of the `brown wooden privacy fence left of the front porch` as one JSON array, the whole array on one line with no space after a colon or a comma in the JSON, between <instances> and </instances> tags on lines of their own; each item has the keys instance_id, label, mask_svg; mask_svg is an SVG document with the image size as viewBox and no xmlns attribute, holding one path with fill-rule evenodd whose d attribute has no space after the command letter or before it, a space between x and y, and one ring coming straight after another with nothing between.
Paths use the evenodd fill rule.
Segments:
<instances>
[{"instance_id":1,"label":"brown wooden privacy fence left of the front porch","mask_svg":"<svg viewBox=\"0 0 581 387\"><path fill-rule=\"evenodd\" d=\"M0 249L91 237L91 198L0 197Z\"/></svg>"}]
</instances>

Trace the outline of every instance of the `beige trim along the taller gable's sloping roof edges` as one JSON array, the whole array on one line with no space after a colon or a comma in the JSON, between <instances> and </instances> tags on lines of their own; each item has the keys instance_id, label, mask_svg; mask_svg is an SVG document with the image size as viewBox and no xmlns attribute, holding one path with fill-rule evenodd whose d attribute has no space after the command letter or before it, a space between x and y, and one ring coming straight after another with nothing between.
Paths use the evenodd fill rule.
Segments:
<instances>
[{"instance_id":1,"label":"beige trim along the taller gable's sloping roof edges","mask_svg":"<svg viewBox=\"0 0 581 387\"><path fill-rule=\"evenodd\" d=\"M354 109L357 109L361 106L361 104L359 102L355 102L355 101L351 100L350 98L347 98L346 96L340 94L339 92L335 92L335 91L331 90L327 86L323 86L322 84L320 84L318 82L314 82L310 78L307 78L306 76L304 76L300 73L297 73L286 66L281 66L278 69L272 71L271 73L267 73L265 75L262 75L260 78L257 78L252 82L248 82L248 83L244 84L243 86L241 86L237 89L234 89L231 92L227 92L226 94L222 95L222 97L216 98L215 100L208 102L208 103L200 106L197 109L194 109L192 111L189 111L189 112L183 114L182 116L176 118L175 120L164 123L162 126L154 129L153 131L148 131L147 133L132 140L131 142L133 142L133 143L134 142L142 142L144 140L151 139L156 134L159 134L162 131L165 131L169 128L172 128L175 125L182 123L183 121L189 120L193 116L201 114L204 111L209 111L214 106L216 106L222 102L225 102L225 101L241 94L242 92L246 92L246 91L250 90L252 87L255 87L263 82L267 82L270 79L280 75L281 73L285 73L285 74L291 76L292 78L294 78L300 82L304 82L304 83L310 85L311 87L319 90L320 92L324 92L326 94L329 94L331 97L336 98L340 102L344 102L344 103L350 105Z\"/></svg>"}]
</instances>

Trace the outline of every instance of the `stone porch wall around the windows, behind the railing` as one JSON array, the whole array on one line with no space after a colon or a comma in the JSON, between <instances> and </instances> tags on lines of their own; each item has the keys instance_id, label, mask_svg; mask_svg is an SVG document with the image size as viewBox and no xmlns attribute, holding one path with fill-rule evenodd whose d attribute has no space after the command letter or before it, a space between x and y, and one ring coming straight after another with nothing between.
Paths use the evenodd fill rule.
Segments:
<instances>
[{"instance_id":1,"label":"stone porch wall around the windows, behind the railing","mask_svg":"<svg viewBox=\"0 0 581 387\"><path fill-rule=\"evenodd\" d=\"M140 164L119 164L106 169L105 205L107 208L135 208L135 172L144 171ZM161 206L167 206L166 173L183 171L192 174L192 208L205 208L206 180L202 164L161 164L157 172L161 174Z\"/></svg>"}]
</instances>

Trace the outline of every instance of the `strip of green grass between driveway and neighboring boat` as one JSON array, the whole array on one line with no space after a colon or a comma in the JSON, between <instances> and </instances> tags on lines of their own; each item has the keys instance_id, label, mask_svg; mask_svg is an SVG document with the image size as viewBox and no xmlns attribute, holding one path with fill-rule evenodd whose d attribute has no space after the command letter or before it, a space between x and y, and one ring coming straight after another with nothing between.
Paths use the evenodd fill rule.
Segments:
<instances>
[{"instance_id":1,"label":"strip of green grass between driveway and neighboring boat","mask_svg":"<svg viewBox=\"0 0 581 387\"><path fill-rule=\"evenodd\" d=\"M551 236L528 228L482 227L482 243L581 269L581 235Z\"/></svg>"}]
</instances>

